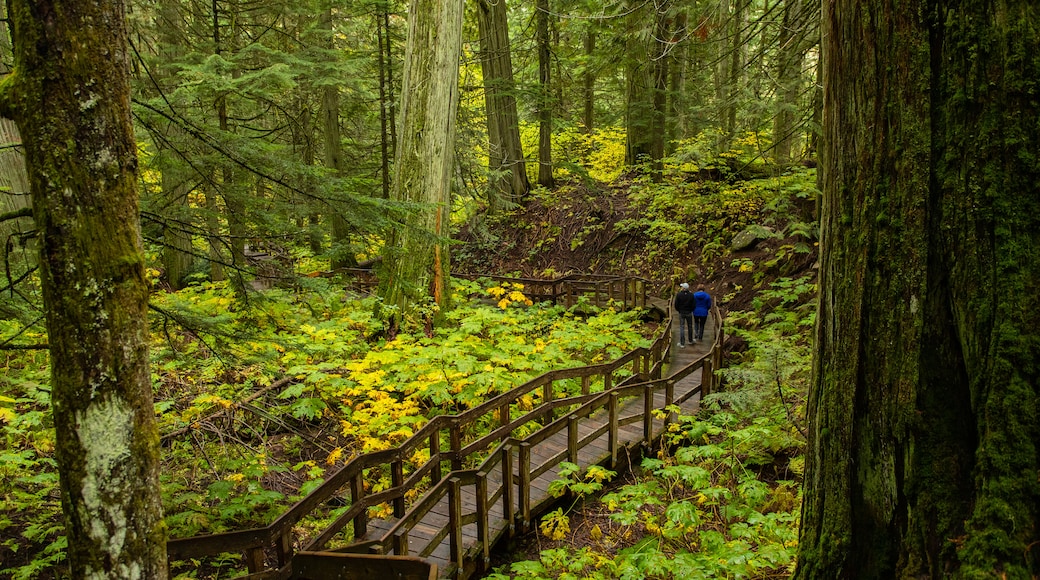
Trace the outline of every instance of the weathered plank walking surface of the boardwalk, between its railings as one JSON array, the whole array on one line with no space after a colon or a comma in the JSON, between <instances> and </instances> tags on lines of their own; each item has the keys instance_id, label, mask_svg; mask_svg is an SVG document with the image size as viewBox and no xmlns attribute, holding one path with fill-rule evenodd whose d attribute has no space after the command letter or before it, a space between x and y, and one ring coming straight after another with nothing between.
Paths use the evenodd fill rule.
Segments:
<instances>
[{"instance_id":1,"label":"weathered plank walking surface of the boardwalk, between its railings","mask_svg":"<svg viewBox=\"0 0 1040 580\"><path fill-rule=\"evenodd\" d=\"M672 328L672 346L666 367L666 378L673 376L676 372L681 371L697 360L707 355L709 353L709 345L713 343L716 336L714 324L710 321L705 327L704 340L687 344L684 348L679 347L677 325ZM699 370L701 372L688 374L675 383L674 397L675 400L681 401L678 406L683 414L695 413L700 403L703 367ZM667 404L666 393L664 391L653 394L651 411L662 410ZM644 397L635 396L627 398L621 405L619 413L619 424L621 426L618 427L617 437L620 447L628 452L633 452L634 448L644 446L647 443L643 420L644 414ZM395 553L426 558L438 565L438 570L441 571L440 577L442 578L468 577L473 572L482 571L483 564L486 564L488 561L488 552L499 539L508 537L517 531L525 531L512 529L511 523L517 522L518 525L526 527L537 526L537 519L553 506L557 498L550 495L548 490L549 484L558 478L562 462L574 463L582 471L597 465L607 467L616 467L618 465L618 457L612 456L610 433L607 428L608 422L609 413L601 410L589 417L578 418L576 426L568 426L569 429L576 428L577 439L580 442L580 448L577 451L576 457L573 456L573 450L569 449L570 433L566 429L557 430L551 436L539 440L537 445L529 446L529 451L521 451L521 449L524 449L521 446L517 446L515 449L509 451L511 454L510 459L501 462L501 464L509 464L512 468L513 486L510 494L505 494L502 489L502 470L487 473L486 493L488 497L504 498L506 495L512 495L514 498L520 498L520 504L515 509L516 513L512 515L506 513L508 508L503 501L496 501L487 506L490 517L488 522L489 529L486 532L485 542L482 542L482 535L484 535L485 531L479 529L479 526L474 521L462 526L461 545L452 547L450 536L444 534L444 530L449 529L452 522L452 498L448 494L445 494L411 529L407 536L407 553L404 551ZM654 419L651 425L652 437L650 443L662 432L665 421L662 419ZM521 454L529 456L522 457ZM530 492L526 500L523 498L523 492L521 491L524 483L521 474L523 473L525 463L529 465L529 472L537 474L532 475L529 480ZM476 486L460 484L458 487L460 499L457 508L459 512L456 517L461 517L465 520L467 516L477 513L482 509L482 506L478 505ZM524 510L526 510L526 513L524 513ZM366 535L359 538L358 542L364 543L392 536L395 532L395 526L399 521L399 519L370 521ZM485 546L488 548L485 549ZM459 558L460 553L462 558ZM453 554L456 557L452 557ZM460 561L460 559L471 563L472 568L467 565L465 570L460 570L459 566L452 563L453 561Z\"/></svg>"}]
</instances>

